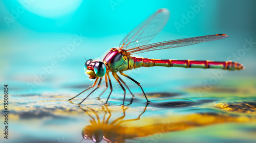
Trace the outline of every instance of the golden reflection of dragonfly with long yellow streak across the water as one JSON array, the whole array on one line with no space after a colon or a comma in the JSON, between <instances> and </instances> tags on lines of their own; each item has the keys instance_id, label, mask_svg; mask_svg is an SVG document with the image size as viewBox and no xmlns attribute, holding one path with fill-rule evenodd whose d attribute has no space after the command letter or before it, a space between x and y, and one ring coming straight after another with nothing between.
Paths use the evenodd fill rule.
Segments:
<instances>
[{"instance_id":1,"label":"golden reflection of dragonfly with long yellow streak across the water","mask_svg":"<svg viewBox=\"0 0 256 143\"><path fill-rule=\"evenodd\" d=\"M182 101L179 101L177 103L182 103ZM249 106L253 105L249 102L246 102L246 104L248 104ZM232 106L234 107L232 109L243 109L242 112L244 112L246 106L248 107L248 105L246 104L234 104L236 106ZM227 107L225 103L219 103L218 107L221 107L222 105L224 105L224 107ZM130 120L124 120L125 114L132 113L133 116L135 114L134 107L122 107L123 115L118 118L114 118L112 122L110 122L111 116L114 116L115 113L114 110L109 109L108 106L102 106L102 111L104 113L102 116L98 114L101 111L100 108L97 109L96 112L92 108L87 107L86 109L78 106L91 117L91 120L89 121L91 125L88 125L82 129L82 137L83 139L93 140L94 142L100 142L102 139L107 142L127 142L127 140L137 140L140 137L146 137L140 138L140 142L142 142L143 139L143 142L159 142L163 133L182 131L195 127L203 127L223 123L256 122L253 115L248 116L248 114L237 114L235 112L232 113L216 109L202 108L194 109L196 110L196 112L190 112L188 114L174 113L170 115L166 114L165 116L155 116L150 114L150 116L142 116L142 114L146 112L147 106L148 104L146 104L144 110L138 115L138 117L136 116L137 118L133 118ZM175 104L169 106L179 108L186 107L181 106L180 104L178 106L176 106ZM153 109L151 111L154 111L154 107L151 109ZM251 107L250 109L253 109L253 107ZM92 113L94 115L92 115ZM109 114L109 116L106 117L106 114ZM96 118L93 116L96 116ZM136 124L134 123L134 121L139 122L138 124ZM128 124L125 125L123 123ZM129 123L133 123L132 126ZM159 140L157 141L155 139ZM136 142L138 142L138 140Z\"/></svg>"}]
</instances>

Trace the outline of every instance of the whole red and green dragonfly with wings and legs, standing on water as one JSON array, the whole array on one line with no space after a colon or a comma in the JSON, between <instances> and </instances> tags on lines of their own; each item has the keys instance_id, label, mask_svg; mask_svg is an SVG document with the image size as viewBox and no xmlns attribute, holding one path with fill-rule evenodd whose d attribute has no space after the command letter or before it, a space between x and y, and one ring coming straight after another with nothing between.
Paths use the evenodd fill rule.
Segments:
<instances>
[{"instance_id":1,"label":"whole red and green dragonfly with wings and legs, standing on water","mask_svg":"<svg viewBox=\"0 0 256 143\"><path fill-rule=\"evenodd\" d=\"M105 104L108 104L109 98L113 91L112 82L110 79L110 74L114 77L117 83L121 86L124 97L123 103L125 100L126 89L124 86L131 92L126 83L121 79L117 73L120 73L121 76L124 76L133 82L135 82L139 88L142 90L144 97L147 103L148 101L146 94L141 87L140 83L130 76L123 73L126 70L133 70L139 67L152 67L152 66L164 66L164 67L185 67L185 68L215 68L215 69L227 69L227 70L240 70L244 69L244 66L238 62L232 61L208 61L208 60L171 60L171 59L149 59L149 58L138 58L135 57L135 54L140 54L144 52L171 49L175 47L182 47L188 45L194 45L202 42L214 41L223 38L227 38L226 34L214 34L206 35L192 38L184 38L178 40L169 40L163 42L157 42L153 44L147 44L151 41L166 25L169 19L168 9L162 8L158 9L151 16L142 21L137 27L135 27L130 33L128 33L120 42L119 47L113 47L110 51L104 56L102 61L86 58L86 63L84 64L84 71L89 75L90 79L95 79L95 82L92 86L88 87L86 90L83 90L81 93L94 88L86 98L84 98L78 105L80 105L84 100L97 90L102 82L102 78L105 79L105 89L100 94L100 96L105 92L105 90L110 85L110 93L108 99L106 99ZM109 83L109 84L108 84ZM123 86L124 85L124 86ZM81 93L77 94L79 96ZM131 92L133 98L134 94ZM70 101L76 98L77 96L69 99ZM99 97L100 97L99 96ZM98 98L99 98L98 97Z\"/></svg>"}]
</instances>

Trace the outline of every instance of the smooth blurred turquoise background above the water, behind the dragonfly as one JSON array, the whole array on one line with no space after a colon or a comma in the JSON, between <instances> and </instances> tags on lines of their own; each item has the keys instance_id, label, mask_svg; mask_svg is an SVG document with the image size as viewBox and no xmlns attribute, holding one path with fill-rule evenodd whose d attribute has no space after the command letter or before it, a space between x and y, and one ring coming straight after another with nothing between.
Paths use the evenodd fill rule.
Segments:
<instances>
[{"instance_id":1,"label":"smooth blurred turquoise background above the water, behind the dragonfly","mask_svg":"<svg viewBox=\"0 0 256 143\"><path fill-rule=\"evenodd\" d=\"M228 71L218 82L236 81L236 78L255 79L256 43L248 44L247 49L250 49L243 51L246 40L256 41L255 4L253 0L1 1L1 83L9 84L19 93L70 92L72 87L78 87L80 91L92 84L84 75L83 56L87 59L102 57L109 49L118 46L122 38L142 20L160 8L169 9L170 19L150 43L219 33L229 37L143 53L139 57L234 60L244 64L246 69ZM185 21L184 15L187 17ZM77 37L80 37L79 44L68 49ZM233 54L237 56L233 57ZM214 76L214 71L151 67L129 72L147 92L202 86L205 80ZM42 78L38 80L40 76ZM78 89L71 92L78 92Z\"/></svg>"}]
</instances>

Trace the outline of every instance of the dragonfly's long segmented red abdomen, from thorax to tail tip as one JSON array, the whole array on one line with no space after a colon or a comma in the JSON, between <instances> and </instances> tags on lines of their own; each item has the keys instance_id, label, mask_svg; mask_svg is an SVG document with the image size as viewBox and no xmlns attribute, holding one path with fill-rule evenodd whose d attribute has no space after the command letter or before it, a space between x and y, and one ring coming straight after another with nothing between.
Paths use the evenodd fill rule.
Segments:
<instances>
[{"instance_id":1,"label":"dragonfly's long segmented red abdomen, from thorax to tail tip","mask_svg":"<svg viewBox=\"0 0 256 143\"><path fill-rule=\"evenodd\" d=\"M151 67L151 66L165 66L165 67L193 67L193 68L217 68L228 70L244 69L243 65L238 62L232 61L196 61L196 60L158 60L148 58L135 58L134 68L138 67Z\"/></svg>"}]
</instances>

